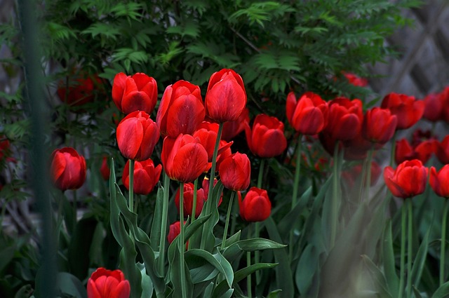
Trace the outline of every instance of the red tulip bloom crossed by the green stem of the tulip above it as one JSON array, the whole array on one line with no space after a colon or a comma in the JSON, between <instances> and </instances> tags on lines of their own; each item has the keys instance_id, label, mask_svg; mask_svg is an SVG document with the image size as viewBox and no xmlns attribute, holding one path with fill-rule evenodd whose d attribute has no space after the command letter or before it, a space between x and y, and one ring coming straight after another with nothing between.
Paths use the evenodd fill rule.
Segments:
<instances>
[{"instance_id":1,"label":"red tulip bloom crossed by the green stem of the tulip above it","mask_svg":"<svg viewBox=\"0 0 449 298\"><path fill-rule=\"evenodd\" d=\"M154 167L151 159L145 161L135 161L134 163L134 179L133 190L135 194L149 194L152 192L159 177L161 176L162 165ZM129 160L123 168L121 181L126 189L129 190Z\"/></svg>"}]
</instances>

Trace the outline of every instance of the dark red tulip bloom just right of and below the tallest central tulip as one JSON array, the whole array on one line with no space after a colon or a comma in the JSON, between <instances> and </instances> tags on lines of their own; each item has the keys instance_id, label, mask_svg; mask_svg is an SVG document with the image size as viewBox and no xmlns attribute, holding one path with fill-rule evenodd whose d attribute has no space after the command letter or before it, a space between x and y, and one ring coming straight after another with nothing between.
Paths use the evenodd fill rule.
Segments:
<instances>
[{"instance_id":1,"label":"dark red tulip bloom just right of and below the tallest central tulip","mask_svg":"<svg viewBox=\"0 0 449 298\"><path fill-rule=\"evenodd\" d=\"M253 130L246 126L246 141L250 151L260 157L274 157L287 148L283 135L283 123L278 118L259 114L255 117Z\"/></svg>"}]
</instances>

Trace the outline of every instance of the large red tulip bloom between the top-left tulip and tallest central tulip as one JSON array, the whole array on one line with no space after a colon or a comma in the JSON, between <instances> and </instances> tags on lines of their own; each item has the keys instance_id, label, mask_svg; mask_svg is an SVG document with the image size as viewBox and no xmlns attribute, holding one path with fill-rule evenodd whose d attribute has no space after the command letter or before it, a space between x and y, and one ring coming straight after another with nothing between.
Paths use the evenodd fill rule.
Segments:
<instances>
[{"instance_id":1,"label":"large red tulip bloom between the top-left tulip and tallest central tulip","mask_svg":"<svg viewBox=\"0 0 449 298\"><path fill-rule=\"evenodd\" d=\"M181 133L192 135L204 120L204 115L199 86L177 81L164 91L156 122L161 135L176 138Z\"/></svg>"}]
</instances>

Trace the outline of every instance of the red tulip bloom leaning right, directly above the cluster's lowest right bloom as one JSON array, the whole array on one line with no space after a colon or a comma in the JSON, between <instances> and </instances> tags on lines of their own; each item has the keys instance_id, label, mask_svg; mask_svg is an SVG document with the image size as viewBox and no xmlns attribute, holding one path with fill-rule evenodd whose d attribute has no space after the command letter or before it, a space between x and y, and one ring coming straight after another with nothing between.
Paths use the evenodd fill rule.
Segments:
<instances>
[{"instance_id":1,"label":"red tulip bloom leaning right, directly above the cluster's lowest right bloom","mask_svg":"<svg viewBox=\"0 0 449 298\"><path fill-rule=\"evenodd\" d=\"M246 154L236 152L228 156L220 163L218 172L227 189L244 191L250 186L251 164Z\"/></svg>"}]
</instances>

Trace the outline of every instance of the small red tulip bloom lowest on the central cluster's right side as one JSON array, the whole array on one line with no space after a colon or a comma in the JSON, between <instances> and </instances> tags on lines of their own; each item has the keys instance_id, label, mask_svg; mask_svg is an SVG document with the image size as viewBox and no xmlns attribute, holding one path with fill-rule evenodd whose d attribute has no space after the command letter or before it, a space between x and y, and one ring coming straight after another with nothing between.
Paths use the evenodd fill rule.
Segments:
<instances>
[{"instance_id":1,"label":"small red tulip bloom lowest on the central cluster's right side","mask_svg":"<svg viewBox=\"0 0 449 298\"><path fill-rule=\"evenodd\" d=\"M246 222L263 222L272 212L267 191L251 187L243 202L239 199L240 216Z\"/></svg>"}]
</instances>

